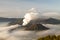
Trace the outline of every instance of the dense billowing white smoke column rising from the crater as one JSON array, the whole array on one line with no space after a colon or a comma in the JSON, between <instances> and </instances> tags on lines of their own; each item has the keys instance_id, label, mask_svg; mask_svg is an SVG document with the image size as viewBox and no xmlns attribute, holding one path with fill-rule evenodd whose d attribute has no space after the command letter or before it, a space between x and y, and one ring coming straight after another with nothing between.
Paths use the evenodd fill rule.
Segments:
<instances>
[{"instance_id":1,"label":"dense billowing white smoke column rising from the crater","mask_svg":"<svg viewBox=\"0 0 60 40\"><path fill-rule=\"evenodd\" d=\"M29 12L25 14L22 25L27 25L31 20L38 18L38 12L35 8L28 10Z\"/></svg>"}]
</instances>

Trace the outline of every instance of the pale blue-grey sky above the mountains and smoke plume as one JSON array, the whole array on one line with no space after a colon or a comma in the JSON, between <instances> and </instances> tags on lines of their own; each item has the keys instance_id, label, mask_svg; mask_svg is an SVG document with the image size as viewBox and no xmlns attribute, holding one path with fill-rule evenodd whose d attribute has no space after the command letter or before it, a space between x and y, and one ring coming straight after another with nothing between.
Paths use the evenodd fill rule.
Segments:
<instances>
[{"instance_id":1,"label":"pale blue-grey sky above the mountains and smoke plume","mask_svg":"<svg viewBox=\"0 0 60 40\"><path fill-rule=\"evenodd\" d=\"M60 12L60 0L0 0L0 17L21 18L31 8Z\"/></svg>"}]
</instances>

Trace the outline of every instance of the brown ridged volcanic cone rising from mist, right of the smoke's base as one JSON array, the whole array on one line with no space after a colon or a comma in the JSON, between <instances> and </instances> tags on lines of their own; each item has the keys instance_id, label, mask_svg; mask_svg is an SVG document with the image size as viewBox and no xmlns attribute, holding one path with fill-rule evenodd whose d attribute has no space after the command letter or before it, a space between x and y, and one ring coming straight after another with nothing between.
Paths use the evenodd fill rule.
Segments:
<instances>
[{"instance_id":1,"label":"brown ridged volcanic cone rising from mist, right of the smoke's base","mask_svg":"<svg viewBox=\"0 0 60 40\"><path fill-rule=\"evenodd\" d=\"M32 24L30 26L27 26L25 30L30 30L30 31L42 31L42 30L48 30L49 28L43 26L42 24Z\"/></svg>"}]
</instances>

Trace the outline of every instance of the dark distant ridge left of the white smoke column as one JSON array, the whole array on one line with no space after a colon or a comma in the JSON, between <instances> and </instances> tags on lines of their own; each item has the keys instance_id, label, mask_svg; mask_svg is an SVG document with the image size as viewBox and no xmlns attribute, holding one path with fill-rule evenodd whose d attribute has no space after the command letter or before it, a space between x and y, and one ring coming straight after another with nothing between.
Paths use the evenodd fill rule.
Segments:
<instances>
[{"instance_id":1,"label":"dark distant ridge left of the white smoke column","mask_svg":"<svg viewBox=\"0 0 60 40\"><path fill-rule=\"evenodd\" d=\"M23 18L4 18L0 17L0 22L9 22L8 25L22 24Z\"/></svg>"}]
</instances>

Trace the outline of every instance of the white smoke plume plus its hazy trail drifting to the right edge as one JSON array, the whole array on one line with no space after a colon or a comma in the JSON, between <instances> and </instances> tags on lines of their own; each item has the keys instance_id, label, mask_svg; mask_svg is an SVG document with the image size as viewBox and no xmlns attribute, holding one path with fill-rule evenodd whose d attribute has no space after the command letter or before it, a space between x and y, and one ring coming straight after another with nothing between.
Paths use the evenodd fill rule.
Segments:
<instances>
[{"instance_id":1,"label":"white smoke plume plus its hazy trail drifting to the right edge","mask_svg":"<svg viewBox=\"0 0 60 40\"><path fill-rule=\"evenodd\" d=\"M31 8L25 14L22 25L27 25L31 20L34 21L35 19L37 19L41 21L49 18L60 19L60 14L58 12L39 13L35 8Z\"/></svg>"}]
</instances>

